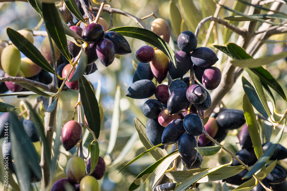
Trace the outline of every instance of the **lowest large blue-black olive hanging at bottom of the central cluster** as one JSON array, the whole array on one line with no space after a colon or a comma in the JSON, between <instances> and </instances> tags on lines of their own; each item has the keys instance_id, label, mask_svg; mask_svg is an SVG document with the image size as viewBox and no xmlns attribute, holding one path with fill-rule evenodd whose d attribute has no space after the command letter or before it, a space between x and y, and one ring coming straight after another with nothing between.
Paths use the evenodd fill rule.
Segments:
<instances>
[{"instance_id":1,"label":"lowest large blue-black olive hanging at bottom of the central cluster","mask_svg":"<svg viewBox=\"0 0 287 191\"><path fill-rule=\"evenodd\" d=\"M197 159L197 150L195 149L197 146L196 138L193 135L185 133L179 138L179 155L181 156L181 160L186 164L187 168L191 168Z\"/></svg>"}]
</instances>

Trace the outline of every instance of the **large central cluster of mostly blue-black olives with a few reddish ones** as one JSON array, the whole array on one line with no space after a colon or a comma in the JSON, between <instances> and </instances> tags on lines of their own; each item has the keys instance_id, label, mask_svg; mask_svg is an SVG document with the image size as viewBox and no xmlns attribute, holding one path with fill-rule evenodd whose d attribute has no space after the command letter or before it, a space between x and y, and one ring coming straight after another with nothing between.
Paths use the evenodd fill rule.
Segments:
<instances>
[{"instance_id":1,"label":"large central cluster of mostly blue-black olives with a few reddish ones","mask_svg":"<svg viewBox=\"0 0 287 191\"><path fill-rule=\"evenodd\" d=\"M143 105L143 113L149 118L146 124L149 141L153 145L178 142L181 159L187 168L199 168L202 156L195 149L198 146L195 137L203 136L203 121L198 111L203 116L203 111L210 108L211 97L207 90L219 85L221 72L212 66L218 61L215 52L205 47L196 48L197 38L191 31L181 33L177 44L180 51L175 54L176 67L161 50L150 46L137 50L136 58L140 63L126 96L146 99L155 95L156 99L149 99ZM203 86L197 82L191 84L189 77L183 78L191 68ZM161 84L168 74L173 81L169 85ZM156 86L153 78L160 85ZM207 125L214 123L215 120L210 119ZM215 133L211 135L215 136ZM203 137L199 141L209 141Z\"/></svg>"}]
</instances>

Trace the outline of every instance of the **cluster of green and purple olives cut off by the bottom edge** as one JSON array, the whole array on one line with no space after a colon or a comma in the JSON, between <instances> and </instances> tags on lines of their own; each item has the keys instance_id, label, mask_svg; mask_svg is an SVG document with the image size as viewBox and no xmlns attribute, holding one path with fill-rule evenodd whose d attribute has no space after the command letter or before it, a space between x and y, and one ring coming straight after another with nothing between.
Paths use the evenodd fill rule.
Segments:
<instances>
[{"instance_id":1,"label":"cluster of green and purple olives cut off by the bottom edge","mask_svg":"<svg viewBox=\"0 0 287 191\"><path fill-rule=\"evenodd\" d=\"M104 177L105 172L106 164L100 156L93 172L91 172L91 158L85 165L82 158L71 157L66 166L67 178L57 180L50 191L67 190L66 188L74 188L76 191L98 191L100 190L98 180Z\"/></svg>"}]
</instances>

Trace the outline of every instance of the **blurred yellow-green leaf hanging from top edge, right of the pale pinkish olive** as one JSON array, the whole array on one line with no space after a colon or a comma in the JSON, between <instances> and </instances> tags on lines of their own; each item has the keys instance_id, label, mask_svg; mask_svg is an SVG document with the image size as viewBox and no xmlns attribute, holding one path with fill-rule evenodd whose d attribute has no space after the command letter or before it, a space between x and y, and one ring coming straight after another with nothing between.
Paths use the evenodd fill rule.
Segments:
<instances>
[{"instance_id":1,"label":"blurred yellow-green leaf hanging from top edge, right of the pale pinkish olive","mask_svg":"<svg viewBox=\"0 0 287 191\"><path fill-rule=\"evenodd\" d=\"M179 9L177 8L177 5L170 0L169 1L169 20L173 29L173 32L175 34L176 37L179 36L179 34L181 34L180 31L180 27L181 27L181 14L179 12Z\"/></svg>"}]
</instances>

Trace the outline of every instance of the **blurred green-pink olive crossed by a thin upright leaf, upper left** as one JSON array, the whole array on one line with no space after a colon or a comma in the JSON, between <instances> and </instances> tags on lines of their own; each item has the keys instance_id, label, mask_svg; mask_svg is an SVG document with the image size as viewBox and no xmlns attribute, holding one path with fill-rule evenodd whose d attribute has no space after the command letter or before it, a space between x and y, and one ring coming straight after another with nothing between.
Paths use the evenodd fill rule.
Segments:
<instances>
[{"instance_id":1,"label":"blurred green-pink olive crossed by a thin upright leaf, upper left","mask_svg":"<svg viewBox=\"0 0 287 191\"><path fill-rule=\"evenodd\" d=\"M53 42L52 44L53 44L54 53L55 53L55 61L57 61L61 56L61 52L57 48L57 46L53 40L52 40L52 42ZM43 56L46 58L46 60L50 64L53 64L53 56L52 56L51 46L50 46L50 42L49 42L49 37L47 37L47 36L43 39L43 41L41 43L41 53L43 54Z\"/></svg>"}]
</instances>

